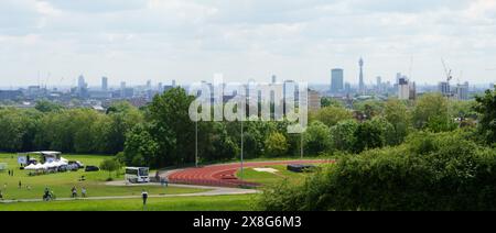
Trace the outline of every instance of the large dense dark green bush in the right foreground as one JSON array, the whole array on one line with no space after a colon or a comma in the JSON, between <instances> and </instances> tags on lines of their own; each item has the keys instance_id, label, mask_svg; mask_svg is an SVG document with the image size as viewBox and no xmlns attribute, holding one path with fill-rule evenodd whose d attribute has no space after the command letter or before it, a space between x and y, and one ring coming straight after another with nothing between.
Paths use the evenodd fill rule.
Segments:
<instances>
[{"instance_id":1,"label":"large dense dark green bush in the right foreground","mask_svg":"<svg viewBox=\"0 0 496 233\"><path fill-rule=\"evenodd\" d=\"M303 185L280 185L259 210L496 210L496 152L461 133L346 156Z\"/></svg>"}]
</instances>

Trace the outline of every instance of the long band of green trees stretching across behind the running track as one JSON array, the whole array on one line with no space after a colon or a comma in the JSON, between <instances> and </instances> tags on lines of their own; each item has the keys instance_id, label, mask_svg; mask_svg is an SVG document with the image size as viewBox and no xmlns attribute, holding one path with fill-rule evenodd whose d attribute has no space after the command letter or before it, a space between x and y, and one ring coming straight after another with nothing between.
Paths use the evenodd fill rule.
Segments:
<instances>
[{"instance_id":1,"label":"long band of green trees stretching across behind the running track","mask_svg":"<svg viewBox=\"0 0 496 233\"><path fill-rule=\"evenodd\" d=\"M0 151L54 149L63 153L118 154L127 165L153 168L195 162L198 127L200 163L238 158L240 122L190 120L194 97L174 88L136 109L119 102L101 113L91 109L65 109L41 101L35 109L0 109ZM357 154L400 145L416 131L444 132L473 126L474 102L448 101L424 95L416 102L399 100L356 102L354 110L324 99L324 108L310 115L303 134L305 155ZM454 121L460 118L460 123ZM296 156L301 137L289 134L287 121L244 123L245 158Z\"/></svg>"}]
</instances>

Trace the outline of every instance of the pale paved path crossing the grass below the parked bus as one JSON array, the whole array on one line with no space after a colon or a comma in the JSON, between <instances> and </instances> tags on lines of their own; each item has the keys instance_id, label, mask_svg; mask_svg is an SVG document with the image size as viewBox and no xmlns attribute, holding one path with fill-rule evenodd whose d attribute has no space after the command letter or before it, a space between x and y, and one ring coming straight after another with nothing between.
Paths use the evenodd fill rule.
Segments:
<instances>
[{"instance_id":1,"label":"pale paved path crossing the grass below the parked bus","mask_svg":"<svg viewBox=\"0 0 496 233\"><path fill-rule=\"evenodd\" d=\"M107 182L109 186L126 186L123 181L111 181ZM160 186L160 184L130 184L128 186ZM150 195L149 198L173 198L173 197L208 197L208 196L228 196L228 195L250 195L258 193L255 189L238 189L238 188L223 188L223 187L206 187L206 186L190 186L190 185L175 185L170 184L170 187L180 188L194 188L194 189L205 189L204 192L194 193L177 193L177 195ZM112 197L89 197L89 198L57 198L56 201L72 201L72 200L115 200L115 199L139 199L141 196L112 196ZM19 199L19 200L3 200L0 203L12 203L12 202L42 202L41 199Z\"/></svg>"}]
</instances>

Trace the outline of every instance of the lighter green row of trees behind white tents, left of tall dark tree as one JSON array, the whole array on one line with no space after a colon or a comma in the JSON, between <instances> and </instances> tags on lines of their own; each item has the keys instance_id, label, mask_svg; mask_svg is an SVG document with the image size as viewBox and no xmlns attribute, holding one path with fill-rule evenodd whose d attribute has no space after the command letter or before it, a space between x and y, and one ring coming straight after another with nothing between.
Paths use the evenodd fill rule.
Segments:
<instances>
[{"instance_id":1,"label":"lighter green row of trees behind white tents, left of tall dark tree","mask_svg":"<svg viewBox=\"0 0 496 233\"><path fill-rule=\"evenodd\" d=\"M106 113L47 101L35 109L1 108L0 151L116 154L123 151L126 133L142 121L142 113L128 102L118 102Z\"/></svg>"}]
</instances>

